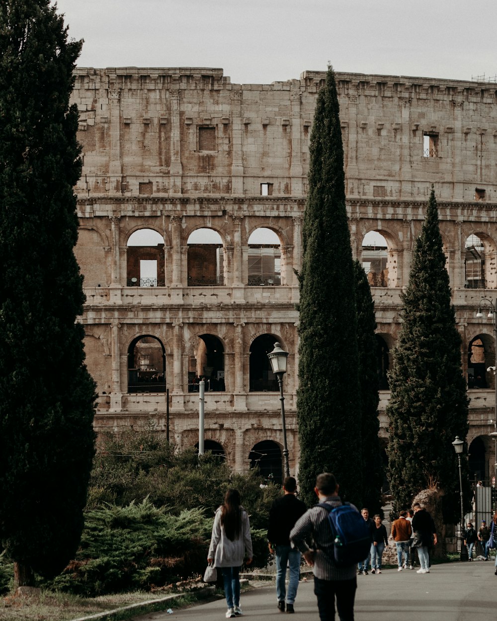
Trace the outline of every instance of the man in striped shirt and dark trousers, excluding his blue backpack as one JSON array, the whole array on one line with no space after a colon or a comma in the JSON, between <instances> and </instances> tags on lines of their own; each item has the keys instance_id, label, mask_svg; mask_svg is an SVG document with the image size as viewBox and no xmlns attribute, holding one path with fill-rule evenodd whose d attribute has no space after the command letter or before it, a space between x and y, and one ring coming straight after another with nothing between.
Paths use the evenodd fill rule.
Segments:
<instances>
[{"instance_id":1,"label":"man in striped shirt and dark trousers, excluding his blue backpack","mask_svg":"<svg viewBox=\"0 0 497 621\"><path fill-rule=\"evenodd\" d=\"M334 474L319 474L314 491L320 503L329 504L332 508L342 504ZM329 512L324 507L308 509L291 530L290 541L303 553L306 563L312 567L319 619L334 621L336 599L340 621L353 621L357 570L355 563L347 567L337 566L333 553L327 551L334 543L328 515ZM309 548L307 543L311 537L314 549Z\"/></svg>"}]
</instances>

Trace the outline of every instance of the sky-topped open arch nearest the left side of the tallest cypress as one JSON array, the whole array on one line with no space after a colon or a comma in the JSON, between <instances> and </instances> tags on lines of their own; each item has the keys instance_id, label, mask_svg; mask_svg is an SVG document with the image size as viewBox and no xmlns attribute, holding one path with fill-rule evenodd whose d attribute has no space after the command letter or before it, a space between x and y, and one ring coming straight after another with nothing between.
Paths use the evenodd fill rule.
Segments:
<instances>
[{"instance_id":1,"label":"sky-topped open arch nearest the left side of the tallest cypress","mask_svg":"<svg viewBox=\"0 0 497 621\"><path fill-rule=\"evenodd\" d=\"M281 247L276 233L265 227L248 238L248 285L281 284Z\"/></svg>"}]
</instances>

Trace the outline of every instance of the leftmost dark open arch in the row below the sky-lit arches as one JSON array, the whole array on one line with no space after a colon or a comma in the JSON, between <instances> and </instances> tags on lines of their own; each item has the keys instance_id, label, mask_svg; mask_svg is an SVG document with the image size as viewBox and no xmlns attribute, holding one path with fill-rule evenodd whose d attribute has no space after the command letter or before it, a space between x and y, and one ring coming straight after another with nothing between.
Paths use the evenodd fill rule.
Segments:
<instances>
[{"instance_id":1,"label":"leftmost dark open arch in the row below the sky-lit arches","mask_svg":"<svg viewBox=\"0 0 497 621\"><path fill-rule=\"evenodd\" d=\"M166 355L158 338L137 337L128 348L128 392L164 392Z\"/></svg>"}]
</instances>

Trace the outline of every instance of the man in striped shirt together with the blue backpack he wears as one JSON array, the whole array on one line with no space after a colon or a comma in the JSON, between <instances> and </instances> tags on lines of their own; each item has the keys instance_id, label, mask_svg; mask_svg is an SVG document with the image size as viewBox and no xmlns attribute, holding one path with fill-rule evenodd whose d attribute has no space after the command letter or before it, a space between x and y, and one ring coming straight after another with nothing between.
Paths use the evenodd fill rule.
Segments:
<instances>
[{"instance_id":1,"label":"man in striped shirt together with the blue backpack he wears","mask_svg":"<svg viewBox=\"0 0 497 621\"><path fill-rule=\"evenodd\" d=\"M356 563L358 559L365 558L364 550L370 546L367 529L360 533L361 540L364 540L360 545L357 545L356 540L349 542L350 531L358 532L362 527L359 523L357 528L355 519L358 518L362 522L363 520L356 507L342 504L338 489L333 474L327 472L319 474L314 487L319 504L306 511L290 533L290 541L303 553L306 563L312 567L314 594L317 597L321 621L334 621L335 599L340 621L353 621L353 604L357 589ZM347 524L344 530L332 527L332 519L338 515L334 510L338 512L344 510L345 517L349 518L349 528ZM311 538L314 541L314 549L309 548L307 544ZM340 560L340 556L344 558Z\"/></svg>"}]
</instances>

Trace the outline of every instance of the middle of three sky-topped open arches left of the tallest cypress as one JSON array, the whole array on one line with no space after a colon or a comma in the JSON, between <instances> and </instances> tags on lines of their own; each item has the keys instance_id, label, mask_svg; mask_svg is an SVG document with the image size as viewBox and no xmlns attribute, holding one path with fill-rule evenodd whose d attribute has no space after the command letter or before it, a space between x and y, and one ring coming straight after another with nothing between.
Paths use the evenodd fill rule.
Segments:
<instances>
[{"instance_id":1,"label":"middle of three sky-topped open arches left of the tallest cypress","mask_svg":"<svg viewBox=\"0 0 497 621\"><path fill-rule=\"evenodd\" d=\"M221 235L212 229L194 230L188 237L188 286L224 285Z\"/></svg>"}]
</instances>

